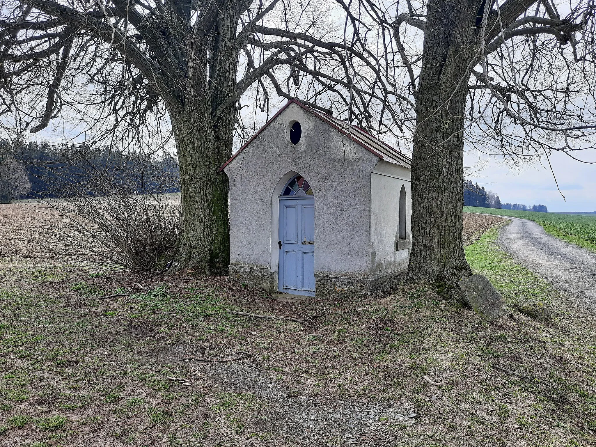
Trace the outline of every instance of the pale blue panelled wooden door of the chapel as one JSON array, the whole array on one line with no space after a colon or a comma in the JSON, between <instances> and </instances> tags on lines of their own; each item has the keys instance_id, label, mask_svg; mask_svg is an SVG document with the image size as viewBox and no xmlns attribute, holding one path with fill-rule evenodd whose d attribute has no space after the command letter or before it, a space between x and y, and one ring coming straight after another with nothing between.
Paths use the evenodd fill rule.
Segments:
<instances>
[{"instance_id":1,"label":"pale blue panelled wooden door of the chapel","mask_svg":"<svg viewBox=\"0 0 596 447\"><path fill-rule=\"evenodd\" d=\"M315 296L315 199L280 197L278 290Z\"/></svg>"}]
</instances>

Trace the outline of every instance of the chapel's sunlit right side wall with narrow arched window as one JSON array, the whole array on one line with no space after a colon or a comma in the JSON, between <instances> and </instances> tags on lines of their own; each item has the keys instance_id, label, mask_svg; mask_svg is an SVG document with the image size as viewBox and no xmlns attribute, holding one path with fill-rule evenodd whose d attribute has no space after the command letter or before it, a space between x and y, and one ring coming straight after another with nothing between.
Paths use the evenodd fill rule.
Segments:
<instances>
[{"instance_id":1,"label":"chapel's sunlit right side wall with narrow arched window","mask_svg":"<svg viewBox=\"0 0 596 447\"><path fill-rule=\"evenodd\" d=\"M406 191L406 241L399 240L399 193ZM371 280L408 268L411 247L412 191L409 169L379 160L371 173Z\"/></svg>"}]
</instances>

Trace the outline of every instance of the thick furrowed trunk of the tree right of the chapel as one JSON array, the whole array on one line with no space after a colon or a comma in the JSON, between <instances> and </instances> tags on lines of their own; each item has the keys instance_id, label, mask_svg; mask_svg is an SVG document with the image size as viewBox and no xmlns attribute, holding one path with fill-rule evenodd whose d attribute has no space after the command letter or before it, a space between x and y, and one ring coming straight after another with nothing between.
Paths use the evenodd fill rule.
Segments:
<instances>
[{"instance_id":1,"label":"thick furrowed trunk of the tree right of the chapel","mask_svg":"<svg viewBox=\"0 0 596 447\"><path fill-rule=\"evenodd\" d=\"M463 132L480 5L429 2L416 100L409 281L455 284L471 274L462 238Z\"/></svg>"}]
</instances>

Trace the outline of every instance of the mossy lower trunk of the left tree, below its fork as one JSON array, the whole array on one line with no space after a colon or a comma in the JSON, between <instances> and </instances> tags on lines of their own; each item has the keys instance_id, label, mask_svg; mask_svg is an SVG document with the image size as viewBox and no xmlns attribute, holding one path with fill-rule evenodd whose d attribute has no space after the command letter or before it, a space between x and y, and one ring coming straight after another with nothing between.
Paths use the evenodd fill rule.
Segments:
<instances>
[{"instance_id":1,"label":"mossy lower trunk of the left tree, below its fork","mask_svg":"<svg viewBox=\"0 0 596 447\"><path fill-rule=\"evenodd\" d=\"M182 240L178 265L226 275L229 266L228 177L219 167L231 156L232 129L213 130L200 116L172 115L180 166Z\"/></svg>"}]
</instances>

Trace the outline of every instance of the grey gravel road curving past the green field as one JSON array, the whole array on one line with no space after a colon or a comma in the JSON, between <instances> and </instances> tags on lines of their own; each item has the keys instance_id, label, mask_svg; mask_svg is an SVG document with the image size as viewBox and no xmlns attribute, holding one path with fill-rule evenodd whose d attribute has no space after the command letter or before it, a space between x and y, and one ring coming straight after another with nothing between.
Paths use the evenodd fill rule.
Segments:
<instances>
[{"instance_id":1,"label":"grey gravel road curving past the green field","mask_svg":"<svg viewBox=\"0 0 596 447\"><path fill-rule=\"evenodd\" d=\"M551 284L596 309L596 253L562 241L526 219L508 218L498 243Z\"/></svg>"}]
</instances>

